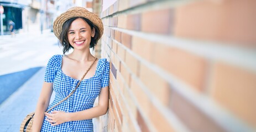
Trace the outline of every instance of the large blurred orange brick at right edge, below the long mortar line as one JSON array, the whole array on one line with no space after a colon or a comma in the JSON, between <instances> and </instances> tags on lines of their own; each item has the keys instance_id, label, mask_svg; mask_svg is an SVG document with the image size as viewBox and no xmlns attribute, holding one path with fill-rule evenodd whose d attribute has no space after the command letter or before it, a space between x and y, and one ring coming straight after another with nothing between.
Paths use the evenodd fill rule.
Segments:
<instances>
[{"instance_id":1,"label":"large blurred orange brick at right edge, below the long mortar line","mask_svg":"<svg viewBox=\"0 0 256 132\"><path fill-rule=\"evenodd\" d=\"M212 78L212 95L215 100L255 126L256 74L218 62Z\"/></svg>"}]
</instances>

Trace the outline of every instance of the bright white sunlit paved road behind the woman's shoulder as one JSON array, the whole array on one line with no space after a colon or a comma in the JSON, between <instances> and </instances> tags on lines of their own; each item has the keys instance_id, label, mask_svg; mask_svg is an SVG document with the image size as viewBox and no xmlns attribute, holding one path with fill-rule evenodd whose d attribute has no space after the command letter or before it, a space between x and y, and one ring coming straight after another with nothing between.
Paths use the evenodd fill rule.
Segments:
<instances>
[{"instance_id":1,"label":"bright white sunlit paved road behind the woman's shoulder","mask_svg":"<svg viewBox=\"0 0 256 132\"><path fill-rule=\"evenodd\" d=\"M0 75L44 67L54 54L61 54L53 32L45 31L0 37Z\"/></svg>"}]
</instances>

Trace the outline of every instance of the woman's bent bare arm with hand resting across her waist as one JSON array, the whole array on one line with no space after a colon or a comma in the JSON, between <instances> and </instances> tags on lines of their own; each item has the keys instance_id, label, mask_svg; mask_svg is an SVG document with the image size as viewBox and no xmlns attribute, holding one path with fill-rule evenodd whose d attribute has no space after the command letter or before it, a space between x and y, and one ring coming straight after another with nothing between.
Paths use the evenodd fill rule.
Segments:
<instances>
[{"instance_id":1,"label":"woman's bent bare arm with hand resting across her waist","mask_svg":"<svg viewBox=\"0 0 256 132\"><path fill-rule=\"evenodd\" d=\"M48 118L48 122L51 125L59 125L64 122L74 121L74 120L85 120L92 119L95 117L102 116L107 113L108 109L108 86L101 89L100 95L98 97L98 106L86 109L80 112L66 113L62 111L54 111L51 114L45 113Z\"/></svg>"}]
</instances>

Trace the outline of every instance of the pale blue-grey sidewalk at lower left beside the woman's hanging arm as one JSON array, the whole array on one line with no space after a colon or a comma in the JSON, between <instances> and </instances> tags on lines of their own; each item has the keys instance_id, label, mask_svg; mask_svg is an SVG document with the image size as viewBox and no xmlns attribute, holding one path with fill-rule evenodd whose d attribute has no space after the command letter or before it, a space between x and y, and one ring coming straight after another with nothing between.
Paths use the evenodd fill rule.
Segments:
<instances>
[{"instance_id":1,"label":"pale blue-grey sidewalk at lower left beside the woman's hanging arm","mask_svg":"<svg viewBox=\"0 0 256 132\"><path fill-rule=\"evenodd\" d=\"M0 105L0 131L19 131L22 120L35 111L43 84L45 68L41 68Z\"/></svg>"}]
</instances>

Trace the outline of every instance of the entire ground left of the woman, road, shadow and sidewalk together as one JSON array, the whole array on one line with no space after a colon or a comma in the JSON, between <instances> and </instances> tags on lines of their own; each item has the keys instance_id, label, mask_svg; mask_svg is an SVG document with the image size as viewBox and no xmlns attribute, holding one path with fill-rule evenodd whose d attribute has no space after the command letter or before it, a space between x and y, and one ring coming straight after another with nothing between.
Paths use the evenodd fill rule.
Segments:
<instances>
[{"instance_id":1,"label":"entire ground left of the woman, road, shadow and sidewalk together","mask_svg":"<svg viewBox=\"0 0 256 132\"><path fill-rule=\"evenodd\" d=\"M0 131L18 131L35 110L46 64L54 54L62 51L53 32L0 36Z\"/></svg>"}]
</instances>

